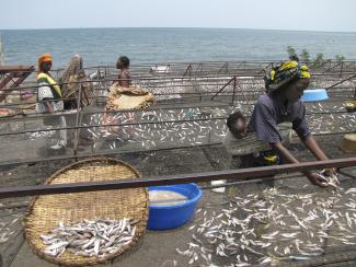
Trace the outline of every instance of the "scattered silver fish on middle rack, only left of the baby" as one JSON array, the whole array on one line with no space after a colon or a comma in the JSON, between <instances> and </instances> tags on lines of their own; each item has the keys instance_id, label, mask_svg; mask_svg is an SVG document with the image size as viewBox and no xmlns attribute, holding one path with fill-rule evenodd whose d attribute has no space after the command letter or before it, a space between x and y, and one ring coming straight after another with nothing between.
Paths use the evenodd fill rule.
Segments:
<instances>
[{"instance_id":1,"label":"scattered silver fish on middle rack, only left of the baby","mask_svg":"<svg viewBox=\"0 0 356 267\"><path fill-rule=\"evenodd\" d=\"M118 148L115 142L124 140L131 143L130 147L140 149L166 148L168 144L177 143L204 144L220 141L226 134L225 117L216 118L218 116L214 114L215 109L210 114L202 113L198 107L139 112L135 113L134 120L125 119L123 113L117 113L111 116L117 120L114 124L122 124L119 127L93 127L88 128L88 131L94 140L112 140L111 149ZM225 109L220 111L227 114ZM137 124L130 125L133 121ZM92 124L105 125L106 121L101 115L92 115L90 124L84 126L90 127ZM113 128L119 130L115 132L111 130Z\"/></svg>"}]
</instances>

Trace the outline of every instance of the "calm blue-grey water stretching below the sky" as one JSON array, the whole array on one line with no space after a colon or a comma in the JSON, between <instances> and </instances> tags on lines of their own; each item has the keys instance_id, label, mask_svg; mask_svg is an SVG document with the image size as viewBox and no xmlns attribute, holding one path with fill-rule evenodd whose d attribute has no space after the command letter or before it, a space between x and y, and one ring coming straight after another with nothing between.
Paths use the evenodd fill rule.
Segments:
<instances>
[{"instance_id":1,"label":"calm blue-grey water stretching below the sky","mask_svg":"<svg viewBox=\"0 0 356 267\"><path fill-rule=\"evenodd\" d=\"M219 28L0 30L7 65L35 65L50 53L54 68L74 54L85 66L114 65L120 55L133 63L287 58L286 47L307 48L314 57L356 59L356 33Z\"/></svg>"}]
</instances>

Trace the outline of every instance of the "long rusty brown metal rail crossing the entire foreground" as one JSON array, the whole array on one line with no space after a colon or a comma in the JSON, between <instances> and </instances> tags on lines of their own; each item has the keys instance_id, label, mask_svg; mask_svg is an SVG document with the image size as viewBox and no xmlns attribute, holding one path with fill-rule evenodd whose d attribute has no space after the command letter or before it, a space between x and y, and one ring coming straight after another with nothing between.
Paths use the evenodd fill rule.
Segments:
<instances>
[{"instance_id":1,"label":"long rusty brown metal rail crossing the entire foreground","mask_svg":"<svg viewBox=\"0 0 356 267\"><path fill-rule=\"evenodd\" d=\"M242 181L252 177L264 177L287 172L306 172L325 167L355 166L356 158L337 159L317 162L305 162L297 164L285 164L263 167L240 169L232 171L219 171L208 173L193 173L185 175L170 175L159 178L127 178L106 182L71 183L38 186L18 186L0 188L0 199L9 197L25 197L37 195L69 194L82 191L113 190L138 188L158 185L174 185L185 183L203 183L216 179Z\"/></svg>"}]
</instances>

